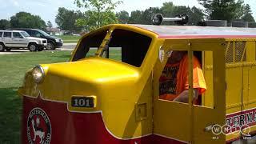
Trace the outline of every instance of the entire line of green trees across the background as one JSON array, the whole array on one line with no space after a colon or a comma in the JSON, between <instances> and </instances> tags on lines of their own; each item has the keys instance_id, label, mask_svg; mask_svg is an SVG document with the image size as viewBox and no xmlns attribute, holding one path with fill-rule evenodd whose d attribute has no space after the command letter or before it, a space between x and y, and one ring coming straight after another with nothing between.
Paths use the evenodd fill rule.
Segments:
<instances>
[{"instance_id":1,"label":"entire line of green trees across the background","mask_svg":"<svg viewBox=\"0 0 256 144\"><path fill-rule=\"evenodd\" d=\"M151 24L152 16L157 13L163 14L164 17L187 14L190 18L188 25L197 25L204 19L255 22L250 5L245 4L243 0L198 0L204 10L195 6L175 6L173 2L164 2L161 7L134 10L130 14L126 10L115 13L114 10L121 3L122 1L113 0L74 0L80 10L60 7L55 22L60 29L70 32L94 30L113 23ZM44 30L46 26L52 27L52 23L46 23L38 15L26 12L15 14L10 21L0 20L0 29L24 27Z\"/></svg>"}]
</instances>

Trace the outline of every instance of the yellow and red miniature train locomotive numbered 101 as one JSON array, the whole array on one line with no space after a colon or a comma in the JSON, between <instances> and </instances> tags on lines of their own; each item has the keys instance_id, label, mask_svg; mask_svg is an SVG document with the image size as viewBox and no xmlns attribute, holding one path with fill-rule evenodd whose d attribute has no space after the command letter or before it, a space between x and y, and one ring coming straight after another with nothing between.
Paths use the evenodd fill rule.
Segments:
<instances>
[{"instance_id":1,"label":"yellow and red miniature train locomotive numbered 101","mask_svg":"<svg viewBox=\"0 0 256 144\"><path fill-rule=\"evenodd\" d=\"M22 143L219 144L251 138L255 32L122 24L93 30L80 38L69 62L27 71L18 90ZM178 54L184 62L166 68ZM180 86L186 101L178 100Z\"/></svg>"}]
</instances>

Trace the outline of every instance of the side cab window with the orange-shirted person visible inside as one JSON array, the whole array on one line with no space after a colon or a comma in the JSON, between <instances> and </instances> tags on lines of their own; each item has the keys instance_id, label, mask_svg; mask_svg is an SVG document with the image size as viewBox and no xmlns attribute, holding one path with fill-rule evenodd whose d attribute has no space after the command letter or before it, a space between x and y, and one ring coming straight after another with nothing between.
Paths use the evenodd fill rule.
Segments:
<instances>
[{"instance_id":1,"label":"side cab window with the orange-shirted person visible inside","mask_svg":"<svg viewBox=\"0 0 256 144\"><path fill-rule=\"evenodd\" d=\"M193 98L194 105L205 106L204 95L209 87L209 92L212 93L213 73L211 69L206 71L205 55L210 51L194 51L193 52ZM189 56L187 51L173 50L167 56L166 65L162 70L159 78L159 99L167 100L170 102L188 103L189 101ZM212 58L212 57L211 57ZM211 61L212 62L212 61ZM208 78L206 78L206 76ZM212 94L209 94L213 97ZM213 101L213 99L211 99ZM211 103L213 104L213 103ZM208 105L213 107L212 105Z\"/></svg>"}]
</instances>

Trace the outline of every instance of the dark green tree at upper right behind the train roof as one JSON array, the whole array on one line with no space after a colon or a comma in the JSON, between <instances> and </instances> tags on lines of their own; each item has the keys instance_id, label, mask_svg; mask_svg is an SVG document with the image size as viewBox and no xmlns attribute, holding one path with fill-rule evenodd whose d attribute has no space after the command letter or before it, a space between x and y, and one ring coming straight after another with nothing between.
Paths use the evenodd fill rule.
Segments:
<instances>
[{"instance_id":1,"label":"dark green tree at upper right behind the train roof","mask_svg":"<svg viewBox=\"0 0 256 144\"><path fill-rule=\"evenodd\" d=\"M198 0L210 19L232 21L242 17L243 0Z\"/></svg>"}]
</instances>

